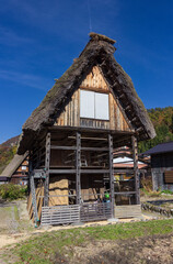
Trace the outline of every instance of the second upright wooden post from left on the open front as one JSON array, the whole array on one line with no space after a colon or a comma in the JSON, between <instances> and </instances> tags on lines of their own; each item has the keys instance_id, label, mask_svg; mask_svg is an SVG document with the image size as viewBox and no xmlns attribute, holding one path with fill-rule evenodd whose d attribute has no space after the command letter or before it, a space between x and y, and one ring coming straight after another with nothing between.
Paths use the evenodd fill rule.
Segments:
<instances>
[{"instance_id":1,"label":"second upright wooden post from left on the open front","mask_svg":"<svg viewBox=\"0 0 173 264\"><path fill-rule=\"evenodd\" d=\"M81 204L81 134L77 132L77 151L76 151L76 193L77 193L77 205Z\"/></svg>"}]
</instances>

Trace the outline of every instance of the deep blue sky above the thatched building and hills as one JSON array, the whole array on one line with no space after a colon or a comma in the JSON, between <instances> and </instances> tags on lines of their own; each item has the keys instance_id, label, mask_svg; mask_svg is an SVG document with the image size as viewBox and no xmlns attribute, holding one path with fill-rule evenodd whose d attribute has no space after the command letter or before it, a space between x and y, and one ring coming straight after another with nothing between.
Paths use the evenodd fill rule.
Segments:
<instances>
[{"instance_id":1,"label":"deep blue sky above the thatched building and hills","mask_svg":"<svg viewBox=\"0 0 173 264\"><path fill-rule=\"evenodd\" d=\"M146 108L173 106L172 0L0 3L0 143L21 133L54 79L83 50L90 28L117 41L115 58Z\"/></svg>"}]
</instances>

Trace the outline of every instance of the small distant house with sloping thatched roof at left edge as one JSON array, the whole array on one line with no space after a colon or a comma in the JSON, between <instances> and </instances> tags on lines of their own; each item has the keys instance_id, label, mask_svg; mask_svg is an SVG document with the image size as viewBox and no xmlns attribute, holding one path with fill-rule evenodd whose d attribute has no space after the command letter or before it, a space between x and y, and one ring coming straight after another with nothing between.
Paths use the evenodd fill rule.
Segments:
<instances>
[{"instance_id":1,"label":"small distant house with sloping thatched roof at left edge","mask_svg":"<svg viewBox=\"0 0 173 264\"><path fill-rule=\"evenodd\" d=\"M0 175L0 183L26 185L28 182L28 153L14 155Z\"/></svg>"}]
</instances>

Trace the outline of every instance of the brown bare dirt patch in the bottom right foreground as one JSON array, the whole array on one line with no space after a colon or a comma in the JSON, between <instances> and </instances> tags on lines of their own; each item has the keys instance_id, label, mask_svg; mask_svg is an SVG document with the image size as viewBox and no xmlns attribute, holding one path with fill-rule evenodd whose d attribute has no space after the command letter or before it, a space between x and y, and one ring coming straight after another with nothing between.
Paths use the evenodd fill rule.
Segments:
<instances>
[{"instance_id":1,"label":"brown bare dirt patch in the bottom right foreground","mask_svg":"<svg viewBox=\"0 0 173 264\"><path fill-rule=\"evenodd\" d=\"M100 241L73 249L70 262L57 258L55 263L71 264L172 264L173 234L153 235L135 240ZM66 256L65 256L66 257Z\"/></svg>"}]
</instances>

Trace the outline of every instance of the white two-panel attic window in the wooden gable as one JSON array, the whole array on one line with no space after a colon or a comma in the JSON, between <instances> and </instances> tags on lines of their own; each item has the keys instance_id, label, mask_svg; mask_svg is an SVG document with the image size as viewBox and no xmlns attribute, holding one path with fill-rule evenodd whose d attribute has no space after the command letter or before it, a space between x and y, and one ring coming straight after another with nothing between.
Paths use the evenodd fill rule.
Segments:
<instances>
[{"instance_id":1,"label":"white two-panel attic window in the wooden gable","mask_svg":"<svg viewBox=\"0 0 173 264\"><path fill-rule=\"evenodd\" d=\"M108 95L94 91L80 91L80 117L109 120Z\"/></svg>"}]
</instances>

